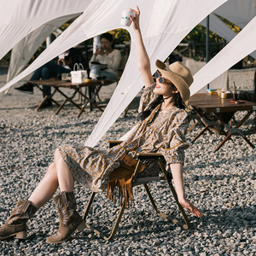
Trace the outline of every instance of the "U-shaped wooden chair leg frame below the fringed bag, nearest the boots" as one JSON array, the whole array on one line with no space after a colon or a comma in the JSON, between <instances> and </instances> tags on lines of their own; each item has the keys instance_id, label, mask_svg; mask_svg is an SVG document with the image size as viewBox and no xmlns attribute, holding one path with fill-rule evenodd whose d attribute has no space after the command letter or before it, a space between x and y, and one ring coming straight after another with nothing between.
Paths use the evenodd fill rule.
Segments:
<instances>
[{"instance_id":1,"label":"U-shaped wooden chair leg frame below the fringed bag, nearest the boots","mask_svg":"<svg viewBox=\"0 0 256 256\"><path fill-rule=\"evenodd\" d=\"M94 197L96 195L96 192L92 192L91 195L90 195L90 200L88 201L88 204L85 208L85 212L84 212L84 221L86 220L86 217L88 216L88 213L89 213L89 210L90 210L90 206L92 204L92 201L94 200ZM119 210L119 215L118 217L116 218L116 221L115 221L115 224L113 225L113 230L110 234L110 236L106 236L104 233L102 233L101 231L99 230L96 230L93 226L91 226L90 224L85 224L87 225L87 227L92 230L94 233L96 233L96 235L98 236L101 236L102 238L104 238L105 240L112 240L113 239L113 236L115 235L116 231L118 230L118 227L119 227L119 223L120 223L120 220L123 216L123 213L125 211L125 203L123 204L123 206L120 208Z\"/></svg>"}]
</instances>

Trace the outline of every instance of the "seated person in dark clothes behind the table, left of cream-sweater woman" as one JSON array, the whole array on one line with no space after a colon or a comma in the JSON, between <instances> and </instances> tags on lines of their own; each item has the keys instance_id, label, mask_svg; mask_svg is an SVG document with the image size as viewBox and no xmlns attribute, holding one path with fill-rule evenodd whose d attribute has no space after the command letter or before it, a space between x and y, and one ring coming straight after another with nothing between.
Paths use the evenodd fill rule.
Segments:
<instances>
[{"instance_id":1,"label":"seated person in dark clothes behind the table, left of cream-sweater woman","mask_svg":"<svg viewBox=\"0 0 256 256\"><path fill-rule=\"evenodd\" d=\"M70 73L73 70L73 65L75 63L82 63L84 65L84 57L80 53L79 49L71 48L59 55L59 59L56 64L54 61L49 61L44 64L42 67L39 67L35 73L32 74L30 81L34 80L45 80L50 78L57 78L58 74L61 73ZM33 85L26 83L20 87L16 87L15 90L20 90L20 92L33 94ZM43 86L43 97L50 94L50 86ZM44 106L41 108L52 106L50 99L44 102Z\"/></svg>"}]
</instances>

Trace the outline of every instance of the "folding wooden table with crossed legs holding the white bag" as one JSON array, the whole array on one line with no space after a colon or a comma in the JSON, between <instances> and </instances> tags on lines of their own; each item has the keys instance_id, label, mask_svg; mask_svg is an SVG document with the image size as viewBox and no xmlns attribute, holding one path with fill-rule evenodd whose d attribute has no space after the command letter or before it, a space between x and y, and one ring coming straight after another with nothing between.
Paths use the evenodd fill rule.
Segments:
<instances>
[{"instance_id":1,"label":"folding wooden table with crossed legs holding the white bag","mask_svg":"<svg viewBox=\"0 0 256 256\"><path fill-rule=\"evenodd\" d=\"M42 102L40 102L40 104L38 105L38 108L36 108L36 110L41 108L42 104L47 99L50 99L57 106L59 106L58 110L55 113L55 114L58 114L61 111L61 108L64 107L66 102L71 102L75 107L79 108L79 110L80 110L79 114L78 114L78 117L84 111L84 108L86 107L86 105L88 103L90 103L90 106L94 106L94 107L98 108L100 111L103 112L103 109L96 104L96 95L97 95L98 91L102 88L102 85L112 84L112 82L110 80L108 80L108 79L95 80L95 81L90 81L88 83L81 83L81 84L74 84L74 83L72 83L70 81L55 80L55 79L35 80L35 81L29 81L29 83L36 85L38 87L38 89L41 90L42 92L44 92L44 90L41 88L40 85L51 86L51 87L54 88L53 92L51 92L49 95L46 95L46 93L44 92L44 94L46 96L44 97L44 100ZM80 90L81 88L84 88L84 87L88 87L88 88L91 88L91 89L93 88L94 90L90 90L89 96L86 96ZM63 88L67 88L67 89L73 90L73 95L72 96L67 96L61 90L61 88L62 89ZM58 91L61 94L61 96L64 96L64 98L65 98L64 102L62 102L61 105L58 102L56 102L55 99L53 99L53 96L55 95L56 91ZM73 102L73 98L74 98L74 96L77 95L77 93L79 93L79 95L84 98L84 104L81 107L77 103Z\"/></svg>"}]
</instances>

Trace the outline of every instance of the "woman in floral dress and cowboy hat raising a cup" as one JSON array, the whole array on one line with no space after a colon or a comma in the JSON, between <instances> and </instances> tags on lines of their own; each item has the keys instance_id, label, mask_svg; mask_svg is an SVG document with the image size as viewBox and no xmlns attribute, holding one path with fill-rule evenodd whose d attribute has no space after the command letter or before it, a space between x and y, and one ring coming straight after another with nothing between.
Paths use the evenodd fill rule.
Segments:
<instances>
[{"instance_id":1,"label":"woman in floral dress and cowboy hat raising a cup","mask_svg":"<svg viewBox=\"0 0 256 256\"><path fill-rule=\"evenodd\" d=\"M100 192L107 188L108 177L120 166L123 156L129 154L135 158L137 152L160 152L164 155L167 168L172 170L178 201L189 212L201 217L201 212L185 198L183 189L183 149L188 147L185 142L188 117L183 108L189 101L189 85L193 78L189 69L180 62L166 67L163 62L157 61L156 66L162 75L154 84L139 28L140 11L138 8L132 11L135 17L130 18L136 33L138 66L145 84L140 104L141 120L119 146L101 151L84 146L64 145L57 148L55 161L49 166L43 180L28 201L18 201L6 224L0 229L1 240L15 235L26 238L26 221L49 201L59 187L61 195L55 196L54 201L60 226L47 242L67 241L75 230L85 227L83 218L76 212L74 180L85 188ZM140 175L151 176L155 172L158 171L153 163Z\"/></svg>"}]
</instances>

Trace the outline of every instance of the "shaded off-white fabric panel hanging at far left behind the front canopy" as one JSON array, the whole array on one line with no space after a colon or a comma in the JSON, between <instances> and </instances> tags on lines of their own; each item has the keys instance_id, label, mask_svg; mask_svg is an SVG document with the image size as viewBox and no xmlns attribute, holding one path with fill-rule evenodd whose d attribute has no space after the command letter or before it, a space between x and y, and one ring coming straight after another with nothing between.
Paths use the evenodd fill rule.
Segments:
<instances>
[{"instance_id":1,"label":"shaded off-white fabric panel hanging at far left behind the front canopy","mask_svg":"<svg viewBox=\"0 0 256 256\"><path fill-rule=\"evenodd\" d=\"M28 61L32 58L32 55L36 52L38 47L44 42L56 28L61 26L67 20L78 16L67 15L55 20L50 20L42 26L39 26L36 30L28 34L25 38L21 39L18 44L12 49L11 59L9 63L9 70L7 74L7 82L13 79L18 73L20 73Z\"/></svg>"}]
</instances>

